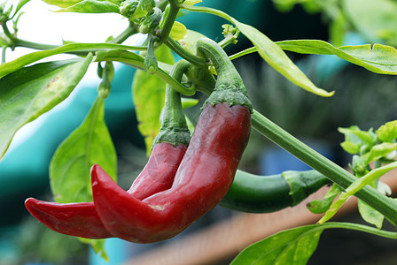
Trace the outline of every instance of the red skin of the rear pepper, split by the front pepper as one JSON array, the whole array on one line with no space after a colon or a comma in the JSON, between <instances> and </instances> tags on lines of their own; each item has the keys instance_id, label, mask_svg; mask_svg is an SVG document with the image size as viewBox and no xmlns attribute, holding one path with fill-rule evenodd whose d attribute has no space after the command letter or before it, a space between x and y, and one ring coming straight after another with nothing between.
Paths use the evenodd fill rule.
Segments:
<instances>
[{"instance_id":1,"label":"red skin of the rear pepper, split by the front pepper","mask_svg":"<svg viewBox=\"0 0 397 265\"><path fill-rule=\"evenodd\" d=\"M186 148L184 145L174 147L166 142L156 144L144 170L127 193L136 200L143 200L169 189ZM114 237L106 230L93 202L57 203L28 198L25 206L32 216L53 231L86 239Z\"/></svg>"}]
</instances>

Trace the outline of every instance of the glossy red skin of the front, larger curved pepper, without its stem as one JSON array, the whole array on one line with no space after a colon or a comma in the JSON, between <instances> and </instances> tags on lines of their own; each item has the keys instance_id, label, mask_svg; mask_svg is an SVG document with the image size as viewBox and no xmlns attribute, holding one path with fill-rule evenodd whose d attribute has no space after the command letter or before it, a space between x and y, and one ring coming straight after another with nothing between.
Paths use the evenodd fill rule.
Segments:
<instances>
[{"instance_id":1,"label":"glossy red skin of the front, larger curved pepper, without its stem","mask_svg":"<svg viewBox=\"0 0 397 265\"><path fill-rule=\"evenodd\" d=\"M250 111L206 105L170 189L136 200L98 165L91 169L97 213L107 231L136 243L170 239L218 204L228 192L247 144Z\"/></svg>"}]
</instances>

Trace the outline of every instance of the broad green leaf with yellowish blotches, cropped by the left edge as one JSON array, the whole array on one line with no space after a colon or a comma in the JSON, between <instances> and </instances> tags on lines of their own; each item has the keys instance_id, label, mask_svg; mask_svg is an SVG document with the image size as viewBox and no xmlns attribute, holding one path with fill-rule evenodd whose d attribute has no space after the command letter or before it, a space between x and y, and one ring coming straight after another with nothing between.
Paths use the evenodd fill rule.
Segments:
<instances>
[{"instance_id":1,"label":"broad green leaf with yellowish blotches, cropped by the left edge","mask_svg":"<svg viewBox=\"0 0 397 265\"><path fill-rule=\"evenodd\" d=\"M22 125L66 99L87 71L92 56L35 64L0 79L0 158Z\"/></svg>"}]
</instances>

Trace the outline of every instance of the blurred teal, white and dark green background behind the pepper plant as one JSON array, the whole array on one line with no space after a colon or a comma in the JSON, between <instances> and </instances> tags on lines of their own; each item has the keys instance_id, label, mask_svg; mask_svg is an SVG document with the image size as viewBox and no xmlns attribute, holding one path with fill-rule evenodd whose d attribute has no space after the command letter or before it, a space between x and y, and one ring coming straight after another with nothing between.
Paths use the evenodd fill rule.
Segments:
<instances>
[{"instance_id":1,"label":"blurred teal, white and dark green background behind the pepper plant","mask_svg":"<svg viewBox=\"0 0 397 265\"><path fill-rule=\"evenodd\" d=\"M361 0L295 2L302 1L205 0L204 4L257 27L275 42L317 39L331 42L337 47L373 42L395 47L395 1L382 0L376 5L371 4L373 1ZM50 44L59 44L62 40L104 42L109 35L119 34L128 24L114 14L54 13L52 10L52 6L41 1L30 1L24 7L26 13L19 21L19 38ZM391 12L394 15L390 15ZM222 40L222 24L225 23L222 19L207 14L186 13L177 20L214 40ZM136 35L126 43L133 45L143 40L142 35ZM229 46L227 52L232 54L251 46L240 35L238 45ZM28 52L30 50L19 48L7 52L7 60ZM367 130L396 119L395 77L368 72L333 56L288 55L318 87L334 90L335 95L321 98L307 93L284 79L255 54L238 58L234 63L245 81L256 110L346 167L351 157L339 147L344 138L338 133L338 127L358 125ZM131 176L136 176L147 161L144 140L137 130L130 91L134 72L132 68L116 64L112 93L105 103L105 120L119 155L119 183L126 188L131 183ZM216 207L175 239L156 244L138 245L120 239L106 239L109 262L103 261L77 239L51 231L30 216L23 204L27 197L52 201L48 177L51 156L58 144L82 122L97 94L98 82L96 70L90 69L65 102L17 133L10 150L0 162L1 265L133 264L134 260L138 261L145 254L152 254L153 257L152 261L146 260L147 264L176 264L155 260L156 249L170 251L170 248L165 247L175 246L177 255L178 245L175 242L184 242L183 239L191 235L199 237L201 231L240 215ZM203 95L198 97L204 99ZM191 120L196 121L199 117L199 107L200 104L186 110ZM263 175L307 169L305 164L255 131L240 167ZM355 210L340 218L362 222ZM309 264L319 264L320 261L322 264L396 264L397 256L393 250L397 243L394 241L352 231L327 231ZM213 261L192 259L184 264L228 264L237 254L236 251L225 251ZM205 256L206 253L201 255ZM324 260L324 257L328 259Z\"/></svg>"}]
</instances>

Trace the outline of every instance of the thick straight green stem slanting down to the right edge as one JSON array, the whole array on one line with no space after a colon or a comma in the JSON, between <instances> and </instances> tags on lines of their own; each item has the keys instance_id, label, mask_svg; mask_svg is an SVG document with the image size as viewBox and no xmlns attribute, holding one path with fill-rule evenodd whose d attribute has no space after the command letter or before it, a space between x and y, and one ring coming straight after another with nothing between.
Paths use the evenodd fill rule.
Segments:
<instances>
[{"instance_id":1,"label":"thick straight green stem slanting down to the right edge","mask_svg":"<svg viewBox=\"0 0 397 265\"><path fill-rule=\"evenodd\" d=\"M330 178L332 182L338 184L343 189L346 189L357 179L336 163L331 162L312 148L307 147L307 145L293 137L290 133L285 132L256 110L253 110L253 128L281 148L298 157L302 162L307 163L313 169ZM373 187L365 186L355 195L372 208L376 208L394 223L397 222L397 203L385 195L378 193Z\"/></svg>"}]
</instances>

